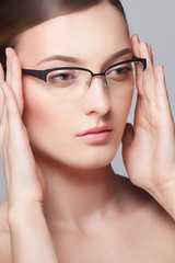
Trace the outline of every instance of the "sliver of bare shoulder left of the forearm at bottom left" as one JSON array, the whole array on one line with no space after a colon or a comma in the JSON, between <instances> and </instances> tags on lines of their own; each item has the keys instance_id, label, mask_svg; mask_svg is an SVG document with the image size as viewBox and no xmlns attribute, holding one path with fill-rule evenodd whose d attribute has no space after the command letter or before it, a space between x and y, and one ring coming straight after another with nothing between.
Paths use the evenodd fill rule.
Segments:
<instances>
[{"instance_id":1,"label":"sliver of bare shoulder left of the forearm at bottom left","mask_svg":"<svg viewBox=\"0 0 175 263\"><path fill-rule=\"evenodd\" d=\"M0 262L11 263L10 233L8 225L7 201L0 204Z\"/></svg>"}]
</instances>

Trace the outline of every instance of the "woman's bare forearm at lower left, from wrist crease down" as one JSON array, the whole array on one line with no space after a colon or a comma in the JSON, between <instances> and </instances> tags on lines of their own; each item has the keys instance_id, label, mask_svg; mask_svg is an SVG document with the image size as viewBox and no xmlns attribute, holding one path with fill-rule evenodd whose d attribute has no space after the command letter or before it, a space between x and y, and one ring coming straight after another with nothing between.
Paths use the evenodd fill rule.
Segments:
<instances>
[{"instance_id":1,"label":"woman's bare forearm at lower left, from wrist crease down","mask_svg":"<svg viewBox=\"0 0 175 263\"><path fill-rule=\"evenodd\" d=\"M40 206L13 206L9 211L12 259L18 263L58 263Z\"/></svg>"}]
</instances>

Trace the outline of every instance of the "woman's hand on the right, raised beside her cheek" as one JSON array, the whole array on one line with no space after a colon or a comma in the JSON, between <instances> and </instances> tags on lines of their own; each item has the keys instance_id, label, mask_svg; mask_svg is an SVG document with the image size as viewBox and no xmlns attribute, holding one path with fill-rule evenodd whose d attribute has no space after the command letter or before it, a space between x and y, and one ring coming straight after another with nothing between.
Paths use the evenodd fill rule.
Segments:
<instances>
[{"instance_id":1,"label":"woman's hand on the right, raised beside her cheek","mask_svg":"<svg viewBox=\"0 0 175 263\"><path fill-rule=\"evenodd\" d=\"M175 125L164 70L153 67L150 45L131 37L136 57L147 58L137 68L138 99L133 127L126 125L122 158L130 181L149 192L175 219Z\"/></svg>"}]
</instances>

